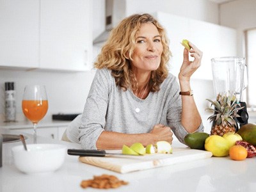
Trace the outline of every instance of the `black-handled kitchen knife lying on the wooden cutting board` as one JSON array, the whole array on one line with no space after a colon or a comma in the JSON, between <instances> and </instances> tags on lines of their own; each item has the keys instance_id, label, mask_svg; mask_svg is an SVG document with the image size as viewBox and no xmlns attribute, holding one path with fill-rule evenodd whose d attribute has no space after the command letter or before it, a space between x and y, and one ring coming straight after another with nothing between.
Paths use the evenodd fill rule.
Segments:
<instances>
[{"instance_id":1,"label":"black-handled kitchen knife lying on the wooden cutting board","mask_svg":"<svg viewBox=\"0 0 256 192\"><path fill-rule=\"evenodd\" d=\"M106 157L106 156L139 156L130 154L109 153L105 150L89 150L89 149L68 149L70 156L90 156L90 157Z\"/></svg>"}]
</instances>

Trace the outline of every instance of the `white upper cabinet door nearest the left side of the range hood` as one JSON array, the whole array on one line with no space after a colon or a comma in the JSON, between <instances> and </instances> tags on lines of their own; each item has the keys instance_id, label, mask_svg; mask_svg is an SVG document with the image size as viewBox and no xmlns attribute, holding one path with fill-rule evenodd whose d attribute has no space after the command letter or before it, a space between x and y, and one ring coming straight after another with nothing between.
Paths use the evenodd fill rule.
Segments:
<instances>
[{"instance_id":1,"label":"white upper cabinet door nearest the left side of the range hood","mask_svg":"<svg viewBox=\"0 0 256 192\"><path fill-rule=\"evenodd\" d=\"M92 56L92 1L44 0L40 68L88 70Z\"/></svg>"}]
</instances>

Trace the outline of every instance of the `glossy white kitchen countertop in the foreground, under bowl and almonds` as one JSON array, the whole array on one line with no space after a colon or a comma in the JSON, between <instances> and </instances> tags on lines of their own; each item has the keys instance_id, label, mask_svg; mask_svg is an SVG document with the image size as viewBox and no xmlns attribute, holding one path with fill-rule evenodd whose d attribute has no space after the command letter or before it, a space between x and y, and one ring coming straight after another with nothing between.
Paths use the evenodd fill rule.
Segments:
<instances>
[{"instance_id":1,"label":"glossy white kitchen countertop in the foreground, under bowl and almonds","mask_svg":"<svg viewBox=\"0 0 256 192\"><path fill-rule=\"evenodd\" d=\"M0 129L2 133L12 133ZM15 133L15 132L13 132ZM17 132L16 132L17 133ZM33 137L26 135L27 143ZM68 148L80 148L76 143L55 141L38 137L38 143L62 143ZM127 186L106 191L255 191L256 157L244 161L232 161L229 157L211 157L179 163L161 168L132 173L116 173L89 164L80 163L77 156L66 156L65 163L54 173L26 175L13 165L11 148L21 145L20 141L3 144L3 167L0 168L0 191L104 191L83 189L81 180L92 179L93 175L109 174L129 182ZM186 147L174 141L173 147Z\"/></svg>"}]
</instances>

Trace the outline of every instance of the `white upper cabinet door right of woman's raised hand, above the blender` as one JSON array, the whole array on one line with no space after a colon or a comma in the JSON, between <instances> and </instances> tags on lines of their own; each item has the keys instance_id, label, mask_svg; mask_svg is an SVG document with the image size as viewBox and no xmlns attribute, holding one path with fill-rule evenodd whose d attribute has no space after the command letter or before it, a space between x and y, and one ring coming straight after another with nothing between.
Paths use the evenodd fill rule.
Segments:
<instances>
[{"instance_id":1,"label":"white upper cabinet door right of woman's raised hand, above the blender","mask_svg":"<svg viewBox=\"0 0 256 192\"><path fill-rule=\"evenodd\" d=\"M194 77L212 79L211 59L223 56L236 56L236 30L203 22L190 20L191 42L203 51L202 65Z\"/></svg>"}]
</instances>

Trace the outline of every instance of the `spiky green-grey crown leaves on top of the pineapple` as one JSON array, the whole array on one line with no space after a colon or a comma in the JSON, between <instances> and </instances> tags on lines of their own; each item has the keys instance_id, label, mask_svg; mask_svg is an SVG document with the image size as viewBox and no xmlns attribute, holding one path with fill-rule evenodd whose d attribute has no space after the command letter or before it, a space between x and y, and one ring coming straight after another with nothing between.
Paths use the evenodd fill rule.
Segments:
<instances>
[{"instance_id":1,"label":"spiky green-grey crown leaves on top of the pineapple","mask_svg":"<svg viewBox=\"0 0 256 192\"><path fill-rule=\"evenodd\" d=\"M213 111L214 115L209 116L207 120L210 122L215 121L217 125L236 125L235 117L239 117L237 111L243 109L236 101L236 95L234 94L218 94L216 100L206 99L211 102L211 107L205 110Z\"/></svg>"}]
</instances>

